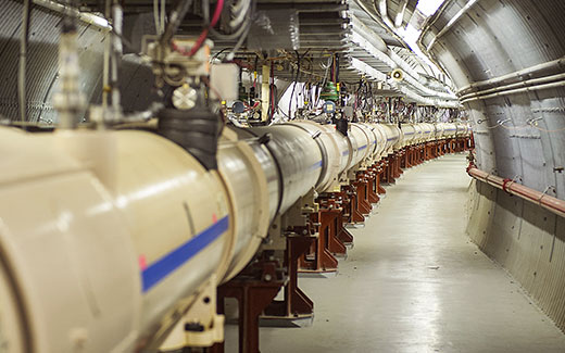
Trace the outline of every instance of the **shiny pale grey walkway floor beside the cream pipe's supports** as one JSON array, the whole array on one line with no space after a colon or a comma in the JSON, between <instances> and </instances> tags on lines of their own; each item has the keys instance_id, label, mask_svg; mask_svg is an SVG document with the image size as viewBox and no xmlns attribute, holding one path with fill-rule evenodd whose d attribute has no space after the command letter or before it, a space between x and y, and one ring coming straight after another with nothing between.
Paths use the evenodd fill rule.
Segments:
<instances>
[{"instance_id":1,"label":"shiny pale grey walkway floor beside the cream pipe's supports","mask_svg":"<svg viewBox=\"0 0 565 353\"><path fill-rule=\"evenodd\" d=\"M406 171L388 187L335 278L300 279L307 328L261 328L261 351L565 352L565 336L465 236L465 156ZM228 352L237 328L228 326Z\"/></svg>"}]
</instances>

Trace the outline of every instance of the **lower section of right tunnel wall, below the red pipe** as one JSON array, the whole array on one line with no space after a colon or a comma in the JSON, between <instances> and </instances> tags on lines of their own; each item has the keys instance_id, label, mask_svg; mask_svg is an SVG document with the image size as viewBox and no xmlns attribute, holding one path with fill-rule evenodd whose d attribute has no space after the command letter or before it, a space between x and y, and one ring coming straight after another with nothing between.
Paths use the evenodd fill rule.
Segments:
<instances>
[{"instance_id":1,"label":"lower section of right tunnel wall, below the red pipe","mask_svg":"<svg viewBox=\"0 0 565 353\"><path fill-rule=\"evenodd\" d=\"M469 238L565 330L565 219L478 181L467 212Z\"/></svg>"}]
</instances>

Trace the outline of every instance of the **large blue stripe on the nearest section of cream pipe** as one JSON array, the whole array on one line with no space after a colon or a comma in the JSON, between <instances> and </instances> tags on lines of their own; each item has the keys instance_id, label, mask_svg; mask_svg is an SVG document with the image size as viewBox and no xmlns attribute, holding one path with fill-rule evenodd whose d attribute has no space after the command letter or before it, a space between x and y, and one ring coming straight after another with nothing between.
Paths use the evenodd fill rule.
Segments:
<instances>
[{"instance_id":1,"label":"large blue stripe on the nearest section of cream pipe","mask_svg":"<svg viewBox=\"0 0 565 353\"><path fill-rule=\"evenodd\" d=\"M205 247L210 245L228 226L228 216L219 219L202 232L176 248L168 254L159 259L141 272L141 283L143 293L162 281L166 276L183 266L187 261L197 255Z\"/></svg>"}]
</instances>

